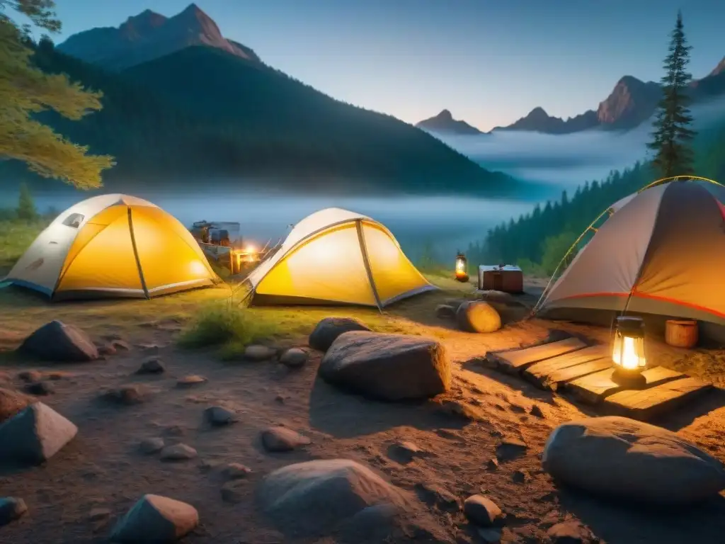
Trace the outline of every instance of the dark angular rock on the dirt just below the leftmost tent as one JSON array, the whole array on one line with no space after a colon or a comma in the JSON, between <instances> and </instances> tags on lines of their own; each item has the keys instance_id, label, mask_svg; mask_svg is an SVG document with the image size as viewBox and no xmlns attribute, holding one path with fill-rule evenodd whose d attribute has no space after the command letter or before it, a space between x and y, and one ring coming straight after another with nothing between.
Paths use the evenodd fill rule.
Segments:
<instances>
[{"instance_id":1,"label":"dark angular rock on the dirt just below the leftmost tent","mask_svg":"<svg viewBox=\"0 0 725 544\"><path fill-rule=\"evenodd\" d=\"M26 338L18 348L42 360L77 363L99 358L98 348L88 334L61 321L51 321Z\"/></svg>"}]
</instances>

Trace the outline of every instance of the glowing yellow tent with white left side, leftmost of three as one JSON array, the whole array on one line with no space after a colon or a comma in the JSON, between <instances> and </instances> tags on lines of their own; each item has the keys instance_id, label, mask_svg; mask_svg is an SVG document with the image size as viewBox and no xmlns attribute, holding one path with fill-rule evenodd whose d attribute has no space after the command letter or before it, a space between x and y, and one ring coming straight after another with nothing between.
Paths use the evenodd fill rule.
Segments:
<instances>
[{"instance_id":1,"label":"glowing yellow tent with white left side, leftmost of three","mask_svg":"<svg viewBox=\"0 0 725 544\"><path fill-rule=\"evenodd\" d=\"M62 300L151 298L218 277L172 215L140 198L104 194L61 213L6 280Z\"/></svg>"}]
</instances>

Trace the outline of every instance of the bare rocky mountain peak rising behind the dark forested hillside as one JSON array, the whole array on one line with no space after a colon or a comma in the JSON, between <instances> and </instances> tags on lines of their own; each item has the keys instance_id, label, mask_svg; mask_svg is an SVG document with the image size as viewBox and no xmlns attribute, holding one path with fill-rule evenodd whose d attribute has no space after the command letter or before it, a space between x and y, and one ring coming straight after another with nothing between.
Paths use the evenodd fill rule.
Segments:
<instances>
[{"instance_id":1,"label":"bare rocky mountain peak rising behind the dark forested hillside","mask_svg":"<svg viewBox=\"0 0 725 544\"><path fill-rule=\"evenodd\" d=\"M173 17L146 9L128 17L119 28L74 34L58 49L107 70L125 70L190 46L222 49L235 57L261 62L249 47L224 38L216 22L193 3Z\"/></svg>"}]
</instances>

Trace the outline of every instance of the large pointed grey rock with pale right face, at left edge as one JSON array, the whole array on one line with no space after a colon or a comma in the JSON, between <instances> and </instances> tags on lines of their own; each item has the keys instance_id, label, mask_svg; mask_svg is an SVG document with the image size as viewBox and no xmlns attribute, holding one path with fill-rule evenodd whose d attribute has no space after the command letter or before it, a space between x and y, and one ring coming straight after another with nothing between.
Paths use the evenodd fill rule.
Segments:
<instances>
[{"instance_id":1,"label":"large pointed grey rock with pale right face, at left edge","mask_svg":"<svg viewBox=\"0 0 725 544\"><path fill-rule=\"evenodd\" d=\"M0 459L38 465L78 434L78 427L43 403L33 403L0 424Z\"/></svg>"}]
</instances>

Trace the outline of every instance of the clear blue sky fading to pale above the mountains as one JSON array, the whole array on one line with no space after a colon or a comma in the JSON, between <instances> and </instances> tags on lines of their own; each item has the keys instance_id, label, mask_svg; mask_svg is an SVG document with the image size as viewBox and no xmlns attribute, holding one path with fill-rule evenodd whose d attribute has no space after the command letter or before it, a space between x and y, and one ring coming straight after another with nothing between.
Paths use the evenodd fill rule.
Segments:
<instances>
[{"instance_id":1,"label":"clear blue sky fading to pale above the mountains","mask_svg":"<svg viewBox=\"0 0 725 544\"><path fill-rule=\"evenodd\" d=\"M57 43L189 0L57 0ZM702 77L725 56L719 0L198 0L227 38L352 104L415 123L443 108L487 130L537 106L595 108L622 75L658 80L683 9Z\"/></svg>"}]
</instances>

